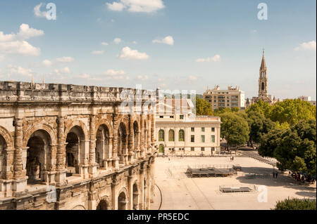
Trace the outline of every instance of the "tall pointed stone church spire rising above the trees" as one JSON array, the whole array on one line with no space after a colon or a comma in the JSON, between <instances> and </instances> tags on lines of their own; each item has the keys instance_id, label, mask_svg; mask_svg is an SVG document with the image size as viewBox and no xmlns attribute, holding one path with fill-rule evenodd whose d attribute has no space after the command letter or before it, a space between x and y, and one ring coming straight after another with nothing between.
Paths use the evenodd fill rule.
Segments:
<instances>
[{"instance_id":1,"label":"tall pointed stone church spire rising above the trees","mask_svg":"<svg viewBox=\"0 0 317 224\"><path fill-rule=\"evenodd\" d=\"M259 93L258 96L254 96L249 100L247 98L246 107L251 106L252 104L256 103L259 100L263 102L267 102L269 104L274 104L279 100L275 99L275 96L268 94L268 77L267 77L267 67L266 67L266 58L264 57L264 50L261 60L261 67L260 67L260 76L259 76Z\"/></svg>"}]
</instances>

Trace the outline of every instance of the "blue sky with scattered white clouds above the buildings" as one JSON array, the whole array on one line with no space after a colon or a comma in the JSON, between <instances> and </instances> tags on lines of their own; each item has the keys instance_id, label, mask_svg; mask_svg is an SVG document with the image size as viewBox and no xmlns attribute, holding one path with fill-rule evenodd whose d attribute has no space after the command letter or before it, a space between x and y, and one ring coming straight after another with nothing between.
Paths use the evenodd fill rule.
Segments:
<instances>
[{"instance_id":1,"label":"blue sky with scattered white clouds above the buildings","mask_svg":"<svg viewBox=\"0 0 317 224\"><path fill-rule=\"evenodd\" d=\"M251 97L265 48L269 93L316 100L315 0L51 2L56 20L37 14L49 1L0 1L0 80L240 86ZM261 2L268 20L257 18Z\"/></svg>"}]
</instances>

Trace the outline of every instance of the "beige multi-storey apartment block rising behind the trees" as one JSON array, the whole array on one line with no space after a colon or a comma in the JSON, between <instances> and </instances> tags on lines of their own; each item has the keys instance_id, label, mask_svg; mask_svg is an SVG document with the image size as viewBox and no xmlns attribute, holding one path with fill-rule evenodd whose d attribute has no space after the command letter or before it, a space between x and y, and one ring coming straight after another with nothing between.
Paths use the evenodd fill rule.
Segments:
<instances>
[{"instance_id":1,"label":"beige multi-storey apartment block rising behind the trees","mask_svg":"<svg viewBox=\"0 0 317 224\"><path fill-rule=\"evenodd\" d=\"M219 86L215 86L213 89L207 87L203 98L211 104L213 110L225 107L245 109L244 91L240 90L240 86L235 88L228 86L227 90L220 90Z\"/></svg>"}]
</instances>

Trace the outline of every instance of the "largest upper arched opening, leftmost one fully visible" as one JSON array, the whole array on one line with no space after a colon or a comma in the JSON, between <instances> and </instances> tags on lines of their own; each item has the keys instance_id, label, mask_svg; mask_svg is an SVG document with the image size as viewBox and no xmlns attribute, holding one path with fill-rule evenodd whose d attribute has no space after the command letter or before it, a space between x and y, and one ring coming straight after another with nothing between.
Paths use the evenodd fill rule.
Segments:
<instances>
[{"instance_id":1,"label":"largest upper arched opening, leftmost one fully visible","mask_svg":"<svg viewBox=\"0 0 317 224\"><path fill-rule=\"evenodd\" d=\"M51 152L51 137L44 130L37 130L27 141L27 183L39 183L44 180L46 166L51 165L49 153Z\"/></svg>"}]
</instances>

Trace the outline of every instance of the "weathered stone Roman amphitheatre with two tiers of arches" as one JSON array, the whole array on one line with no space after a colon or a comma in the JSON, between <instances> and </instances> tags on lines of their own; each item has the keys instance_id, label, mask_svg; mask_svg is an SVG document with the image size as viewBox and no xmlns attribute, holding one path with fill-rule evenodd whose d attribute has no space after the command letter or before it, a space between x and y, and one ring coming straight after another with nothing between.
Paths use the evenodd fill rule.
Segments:
<instances>
[{"instance_id":1,"label":"weathered stone Roman amphitheatre with two tiers of arches","mask_svg":"<svg viewBox=\"0 0 317 224\"><path fill-rule=\"evenodd\" d=\"M122 91L0 81L0 209L149 209L154 114Z\"/></svg>"}]
</instances>

